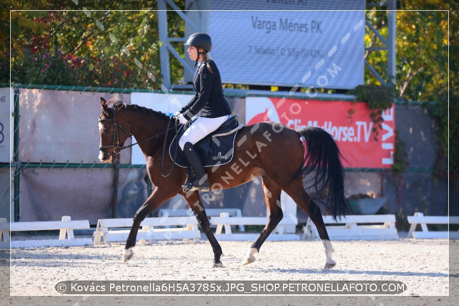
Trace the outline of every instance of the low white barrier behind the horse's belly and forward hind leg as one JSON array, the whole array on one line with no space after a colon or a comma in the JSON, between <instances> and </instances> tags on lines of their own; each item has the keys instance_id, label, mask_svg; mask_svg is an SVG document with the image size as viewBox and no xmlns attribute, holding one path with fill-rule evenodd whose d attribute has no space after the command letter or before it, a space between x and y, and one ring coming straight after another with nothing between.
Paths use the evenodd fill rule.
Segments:
<instances>
[{"instance_id":1,"label":"low white barrier behind the horse's belly and forward hind leg","mask_svg":"<svg viewBox=\"0 0 459 306\"><path fill-rule=\"evenodd\" d=\"M215 231L215 237L217 240L255 240L260 234L233 234L231 225L266 225L268 223L267 217L230 217L228 213L221 213L220 217L211 217L211 222L217 225ZM296 234L285 234L285 225L297 225L298 220L293 220L289 217L279 222L276 226L275 231L269 235L268 240L299 240L299 235ZM225 228L225 234L221 234L223 227ZM276 234L278 233L278 234Z\"/></svg>"}]
</instances>

